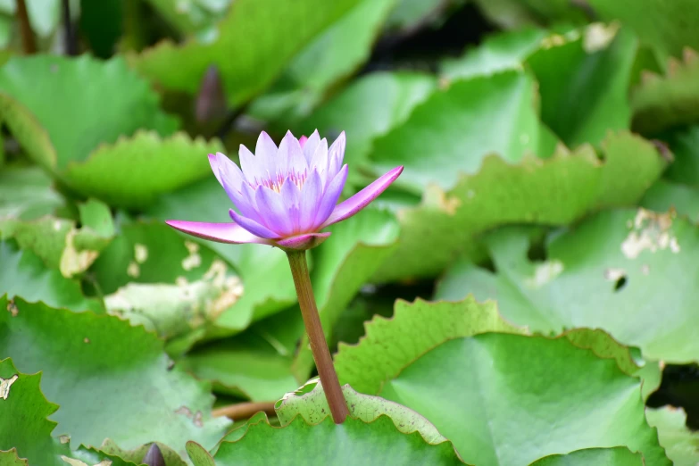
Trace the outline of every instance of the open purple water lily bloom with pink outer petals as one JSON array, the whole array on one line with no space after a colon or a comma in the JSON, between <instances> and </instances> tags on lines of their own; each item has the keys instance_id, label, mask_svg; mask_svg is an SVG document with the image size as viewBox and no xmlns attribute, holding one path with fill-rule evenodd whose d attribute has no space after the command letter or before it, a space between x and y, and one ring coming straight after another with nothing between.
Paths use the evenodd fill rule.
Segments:
<instances>
[{"instance_id":1,"label":"open purple water lily bloom with pink outer petals","mask_svg":"<svg viewBox=\"0 0 699 466\"><path fill-rule=\"evenodd\" d=\"M318 131L299 141L290 131L279 148L264 131L255 154L240 146L240 167L224 154L209 154L213 174L235 209L229 223L167 221L174 229L221 243L259 243L286 250L320 245L320 230L344 221L370 204L403 171L396 167L337 204L345 187L345 132L328 148ZM242 171L241 171L242 169Z\"/></svg>"}]
</instances>

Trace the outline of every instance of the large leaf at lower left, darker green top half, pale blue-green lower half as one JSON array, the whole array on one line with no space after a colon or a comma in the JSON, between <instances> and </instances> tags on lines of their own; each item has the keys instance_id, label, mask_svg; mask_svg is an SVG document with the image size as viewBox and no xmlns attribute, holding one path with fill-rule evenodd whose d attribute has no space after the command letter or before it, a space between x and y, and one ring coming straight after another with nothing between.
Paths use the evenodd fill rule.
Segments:
<instances>
[{"instance_id":1,"label":"large leaf at lower left, darker green top half, pale blue-green lower half","mask_svg":"<svg viewBox=\"0 0 699 466\"><path fill-rule=\"evenodd\" d=\"M227 421L212 419L207 384L168 370L162 340L143 327L19 298L14 306L0 312L0 354L21 370L43 370L46 395L61 405L57 429L72 441L109 437L132 449L155 440L184 455L187 440L212 447L223 435Z\"/></svg>"}]
</instances>

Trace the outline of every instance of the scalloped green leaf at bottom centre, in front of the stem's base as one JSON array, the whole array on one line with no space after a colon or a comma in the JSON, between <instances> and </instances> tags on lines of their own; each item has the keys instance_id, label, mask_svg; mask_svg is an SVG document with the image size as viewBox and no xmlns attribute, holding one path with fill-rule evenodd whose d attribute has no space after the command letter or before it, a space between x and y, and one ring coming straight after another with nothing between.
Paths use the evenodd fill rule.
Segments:
<instances>
[{"instance_id":1,"label":"scalloped green leaf at bottom centre, in front of the stem's base","mask_svg":"<svg viewBox=\"0 0 699 466\"><path fill-rule=\"evenodd\" d=\"M450 443L429 445L418 432L405 435L387 416L371 423L349 418L340 425L328 417L314 426L297 417L284 428L258 420L248 424L245 436L236 442L222 442L214 458L221 466L290 466L303 464L308 458L319 464L357 466L463 464Z\"/></svg>"}]
</instances>

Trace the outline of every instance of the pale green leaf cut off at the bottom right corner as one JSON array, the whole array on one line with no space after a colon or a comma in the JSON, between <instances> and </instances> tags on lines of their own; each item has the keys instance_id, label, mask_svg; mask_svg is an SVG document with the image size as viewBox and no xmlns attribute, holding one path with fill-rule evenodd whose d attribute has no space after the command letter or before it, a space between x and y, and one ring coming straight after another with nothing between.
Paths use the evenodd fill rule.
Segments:
<instances>
[{"instance_id":1,"label":"pale green leaf cut off at the bottom right corner","mask_svg":"<svg viewBox=\"0 0 699 466\"><path fill-rule=\"evenodd\" d=\"M699 434L687 429L687 414L681 408L648 408L645 417L658 429L661 445L675 466L696 466L699 462Z\"/></svg>"}]
</instances>

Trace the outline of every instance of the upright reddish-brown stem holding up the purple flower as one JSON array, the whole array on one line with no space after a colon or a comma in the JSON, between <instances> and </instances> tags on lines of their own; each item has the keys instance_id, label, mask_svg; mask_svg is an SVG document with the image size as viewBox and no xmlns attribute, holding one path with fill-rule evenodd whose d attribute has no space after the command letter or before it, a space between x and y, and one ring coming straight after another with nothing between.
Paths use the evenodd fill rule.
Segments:
<instances>
[{"instance_id":1,"label":"upright reddish-brown stem holding up the purple flower","mask_svg":"<svg viewBox=\"0 0 699 466\"><path fill-rule=\"evenodd\" d=\"M301 307L301 314L304 316L304 326L308 340L311 342L313 360L318 368L320 383L323 386L325 397L328 399L332 419L336 424L342 424L349 411L345 396L342 394L342 388L340 388L340 382L337 379L335 367L332 364L323 327L320 324L320 316L311 287L311 277L308 274L308 264L306 264L306 252L287 251L287 257L291 266L291 275L294 277L298 304Z\"/></svg>"}]
</instances>

